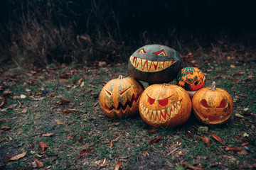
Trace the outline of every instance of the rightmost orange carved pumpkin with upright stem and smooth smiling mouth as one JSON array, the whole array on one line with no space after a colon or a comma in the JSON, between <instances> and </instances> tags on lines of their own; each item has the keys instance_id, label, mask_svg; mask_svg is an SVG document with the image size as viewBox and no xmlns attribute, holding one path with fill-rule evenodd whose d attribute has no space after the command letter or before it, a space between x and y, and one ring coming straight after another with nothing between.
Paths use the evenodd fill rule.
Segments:
<instances>
[{"instance_id":1,"label":"rightmost orange carved pumpkin with upright stem and smooth smiling mouth","mask_svg":"<svg viewBox=\"0 0 256 170\"><path fill-rule=\"evenodd\" d=\"M223 89L215 88L215 81L211 87L196 91L192 105L196 118L208 125L225 123L233 113L233 100L230 94Z\"/></svg>"}]
</instances>

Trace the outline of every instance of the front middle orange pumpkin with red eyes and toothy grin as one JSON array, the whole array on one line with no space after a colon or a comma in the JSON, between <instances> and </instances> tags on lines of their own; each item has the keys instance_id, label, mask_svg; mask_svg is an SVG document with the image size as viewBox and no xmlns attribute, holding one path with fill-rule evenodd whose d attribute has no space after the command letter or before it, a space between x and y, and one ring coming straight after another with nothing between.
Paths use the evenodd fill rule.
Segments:
<instances>
[{"instance_id":1,"label":"front middle orange pumpkin with red eyes and toothy grin","mask_svg":"<svg viewBox=\"0 0 256 170\"><path fill-rule=\"evenodd\" d=\"M191 108L191 99L186 91L174 84L152 84L139 99L142 119L155 128L186 123Z\"/></svg>"}]
</instances>

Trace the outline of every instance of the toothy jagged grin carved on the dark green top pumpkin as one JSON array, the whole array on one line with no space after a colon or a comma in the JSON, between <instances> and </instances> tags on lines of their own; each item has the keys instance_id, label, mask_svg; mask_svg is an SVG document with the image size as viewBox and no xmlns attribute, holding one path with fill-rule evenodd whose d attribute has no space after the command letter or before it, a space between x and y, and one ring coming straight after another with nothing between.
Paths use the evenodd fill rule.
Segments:
<instances>
[{"instance_id":1,"label":"toothy jagged grin carved on the dark green top pumpkin","mask_svg":"<svg viewBox=\"0 0 256 170\"><path fill-rule=\"evenodd\" d=\"M176 60L162 62L151 61L134 56L131 56L129 60L136 69L139 69L139 71L142 72L159 72L167 67L170 67L176 62Z\"/></svg>"}]
</instances>

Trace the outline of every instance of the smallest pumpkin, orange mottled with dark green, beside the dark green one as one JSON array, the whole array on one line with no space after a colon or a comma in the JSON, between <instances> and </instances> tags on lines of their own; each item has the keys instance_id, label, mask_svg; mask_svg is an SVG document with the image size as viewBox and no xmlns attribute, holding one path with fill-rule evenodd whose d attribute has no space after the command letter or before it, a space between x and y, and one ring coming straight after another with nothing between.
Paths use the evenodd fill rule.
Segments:
<instances>
[{"instance_id":1,"label":"smallest pumpkin, orange mottled with dark green, beside the dark green one","mask_svg":"<svg viewBox=\"0 0 256 170\"><path fill-rule=\"evenodd\" d=\"M185 67L178 73L176 84L186 91L196 91L206 84L206 77L196 67Z\"/></svg>"}]
</instances>

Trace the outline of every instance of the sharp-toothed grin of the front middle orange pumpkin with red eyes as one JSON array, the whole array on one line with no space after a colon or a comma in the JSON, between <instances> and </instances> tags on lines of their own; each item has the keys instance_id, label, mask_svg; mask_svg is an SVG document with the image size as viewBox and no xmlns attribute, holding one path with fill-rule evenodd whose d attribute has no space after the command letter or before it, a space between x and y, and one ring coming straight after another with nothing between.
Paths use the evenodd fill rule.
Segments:
<instances>
[{"instance_id":1,"label":"sharp-toothed grin of the front middle orange pumpkin with red eyes","mask_svg":"<svg viewBox=\"0 0 256 170\"><path fill-rule=\"evenodd\" d=\"M182 99L174 103L171 107L157 111L152 111L151 109L146 108L141 101L139 103L139 109L146 120L151 121L152 123L165 123L178 114L178 111L181 109L181 101Z\"/></svg>"}]
</instances>

